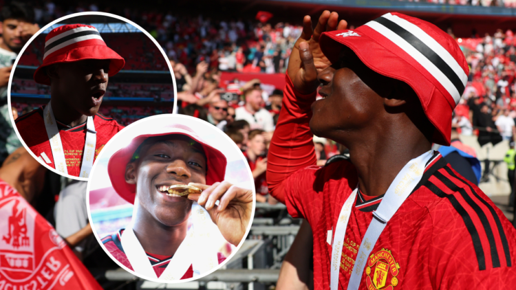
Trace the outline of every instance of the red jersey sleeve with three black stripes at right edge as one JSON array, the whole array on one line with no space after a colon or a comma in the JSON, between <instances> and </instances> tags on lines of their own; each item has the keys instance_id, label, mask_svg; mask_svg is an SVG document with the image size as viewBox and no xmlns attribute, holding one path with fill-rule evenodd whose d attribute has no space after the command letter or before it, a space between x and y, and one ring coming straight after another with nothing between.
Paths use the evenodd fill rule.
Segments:
<instances>
[{"instance_id":1,"label":"red jersey sleeve with three black stripes at right edge","mask_svg":"<svg viewBox=\"0 0 516 290\"><path fill-rule=\"evenodd\" d=\"M504 214L469 183L480 199L443 199L432 214L426 261L438 289L511 289L516 285L516 231ZM466 192L466 193L464 193ZM476 210L475 210L476 209ZM435 288L434 288L435 289Z\"/></svg>"}]
</instances>

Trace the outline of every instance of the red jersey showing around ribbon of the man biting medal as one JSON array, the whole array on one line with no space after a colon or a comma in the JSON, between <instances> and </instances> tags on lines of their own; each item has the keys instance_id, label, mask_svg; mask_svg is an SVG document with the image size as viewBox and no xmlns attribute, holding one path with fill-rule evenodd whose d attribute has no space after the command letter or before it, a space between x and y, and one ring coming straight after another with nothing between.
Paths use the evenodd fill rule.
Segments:
<instances>
[{"instance_id":1,"label":"red jersey showing around ribbon of the man biting medal","mask_svg":"<svg viewBox=\"0 0 516 290\"><path fill-rule=\"evenodd\" d=\"M129 263L129 259L125 256L124 249L122 248L122 242L120 242L120 236L122 236L122 232L124 229L119 230L118 232L106 236L101 241L106 247L106 249L111 253L111 255L118 260L118 262L122 263L125 267L134 271L133 267L131 267L131 263ZM169 265L170 260L172 260L173 256L163 256L158 254L150 254L147 253L147 258L151 261L152 269L158 278L160 278L161 274L165 271L166 266ZM217 258L219 259L219 264L226 260L226 257L222 255L222 253L217 253ZM190 265L188 270L184 273L181 279L193 278L193 266Z\"/></svg>"}]
</instances>

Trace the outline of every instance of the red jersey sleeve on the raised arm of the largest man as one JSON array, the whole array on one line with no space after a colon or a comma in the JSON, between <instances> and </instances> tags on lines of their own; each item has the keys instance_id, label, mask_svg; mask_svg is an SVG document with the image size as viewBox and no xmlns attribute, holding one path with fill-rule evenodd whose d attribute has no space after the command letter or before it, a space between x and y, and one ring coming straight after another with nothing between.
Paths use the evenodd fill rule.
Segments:
<instances>
[{"instance_id":1,"label":"red jersey sleeve on the raised arm of the largest man","mask_svg":"<svg viewBox=\"0 0 516 290\"><path fill-rule=\"evenodd\" d=\"M283 181L297 170L316 164L313 134L309 126L312 118L310 106L315 101L316 92L308 95L298 93L286 74L283 93L283 105L269 146L267 182L272 196L285 203ZM296 186L289 189L295 190L300 185L291 182L290 186Z\"/></svg>"}]
</instances>

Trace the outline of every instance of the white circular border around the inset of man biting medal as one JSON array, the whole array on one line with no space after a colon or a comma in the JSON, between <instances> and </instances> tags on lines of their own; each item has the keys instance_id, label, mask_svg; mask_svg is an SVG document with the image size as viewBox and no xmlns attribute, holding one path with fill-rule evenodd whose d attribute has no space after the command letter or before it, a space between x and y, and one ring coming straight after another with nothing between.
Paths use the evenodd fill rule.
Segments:
<instances>
[{"instance_id":1,"label":"white circular border around the inset of man biting medal","mask_svg":"<svg viewBox=\"0 0 516 290\"><path fill-rule=\"evenodd\" d=\"M194 118L194 117L191 117L189 115L180 115L180 114L171 114L171 113L168 113L168 114L160 114L160 115L153 115L153 116L149 116L147 118L143 118L143 119L140 119L136 122L133 122L132 124L129 124L129 126L125 127L125 131L120 131L122 132L122 134L124 134L123 132L127 132L131 129L131 127L133 127L133 125L139 125L139 123L141 122L146 122L148 120L153 120L153 119L159 119L159 118L177 118L176 120L184 120L184 123L181 123L181 122L175 122L175 124L188 124L188 122L198 122L199 124L203 124L204 125L209 125L211 127L213 127L213 130L215 130L215 132L223 135L223 138L226 138L226 140L229 141L230 143L230 146L233 146L233 148L235 148L235 150L237 150L237 152L239 153L241 159L243 160L246 160L246 157L244 156L244 153L241 152L240 148L238 148L237 144L235 144L235 142L233 142L233 140L231 140L231 138L226 135L225 133L223 133L222 131L220 131L219 129L217 129L217 127L211 125L210 123L206 122L206 121L203 121L203 120L200 120L198 118ZM210 128L211 129L211 128ZM109 140L105 147L109 146L110 144L113 144L114 142L116 142L116 139L120 136L120 133L117 133L116 135L114 135L114 137L111 138L111 140ZM107 152L107 150L101 150L100 153L98 154L98 159L100 159L100 157L105 153ZM94 163L93 166L92 166L92 173L94 172L95 168L97 166L97 163ZM227 166L227 165L226 165ZM102 243L102 238L100 236L98 236L96 230L95 230L95 226L92 225L92 230L93 230L93 233L94 233L94 236L95 238L97 239L100 247L102 247L102 249L104 250L104 252L106 252L107 256L109 256L109 258L111 258L111 260L113 260L118 266L120 266L122 269L125 269L125 271L128 271L129 273L133 274L134 276L137 276L139 278L142 278L144 280L149 280L149 281L152 281L152 282L159 282L159 283L172 283L172 284L178 284L178 283L183 283L183 282L191 282L191 281L195 281L199 278L203 278L205 276L208 276L209 274L212 274L214 271L217 271L218 269L220 269L222 266L226 265L226 263L228 263L231 258L233 258L233 256L235 256L235 254L237 254L238 250L241 248L242 245L244 245L244 241L246 241L246 238L251 230L251 226L252 226L252 221L255 219L255 210L256 210L256 190L255 190L255 184L254 182L252 182L252 180L254 180L252 178L252 172L251 172L251 169L249 166L247 166L247 172L248 172L248 175L249 177L251 177L251 183L252 183L252 211L251 211L251 218L249 220L249 223L247 225L247 230L246 230L246 233L244 234L244 237L241 239L240 243L237 245L237 247L235 247L235 250L233 252L231 252L231 254L226 257L226 260L224 260L222 263L220 263L217 267L215 267L215 269L211 269L210 271L206 271L206 273L204 274L201 274L200 276L195 276L195 277L192 277L192 278L187 278L187 279L181 279L181 280L162 280L162 279L155 279L155 278L151 278L151 277L146 277L146 276L142 276L141 274L138 274L136 273L135 271L125 267L125 265L123 265L122 263L120 263L120 261L118 261L118 259L114 258L113 255L111 255L111 253L106 249L106 247L104 246L104 244ZM93 175L90 175L90 176L93 176ZM88 212L88 219L89 219L89 222L92 223L92 212L89 208L89 188L92 184L92 181L88 181L88 184L86 186L86 198L87 198L87 202L86 202L86 207L87 207L87 212ZM224 281L222 281L224 282Z\"/></svg>"}]
</instances>

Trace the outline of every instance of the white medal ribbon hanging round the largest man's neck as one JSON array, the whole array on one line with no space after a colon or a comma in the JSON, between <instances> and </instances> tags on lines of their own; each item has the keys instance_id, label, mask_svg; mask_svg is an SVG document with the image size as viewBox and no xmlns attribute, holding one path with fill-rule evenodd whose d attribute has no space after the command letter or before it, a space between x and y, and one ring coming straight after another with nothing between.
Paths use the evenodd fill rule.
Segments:
<instances>
[{"instance_id":1,"label":"white medal ribbon hanging round the largest man's neck","mask_svg":"<svg viewBox=\"0 0 516 290\"><path fill-rule=\"evenodd\" d=\"M405 199L409 197L409 194L419 183L424 172L425 164L427 164L427 161L429 161L432 156L433 151L430 150L405 164L398 175L396 175L396 178L394 178L394 181L392 181L387 192L385 192L380 205L378 205L378 208L373 212L373 219L369 224L369 227L367 227L365 236L362 239L362 243L358 249L358 253L356 254L356 260L350 282L347 285L347 290L358 289L362 273L364 271L365 261L374 248L376 241L378 241L378 237L383 232L387 222L389 222L391 217L394 216L396 211L398 211L398 208L400 208ZM340 273L339 270L341 269L341 255L344 236L357 192L358 185L357 188L353 190L352 194L350 194L350 197L345 201L341 209L341 213L338 216L334 240L332 243L332 265L330 265L330 287L332 290L338 289L338 275Z\"/></svg>"}]
</instances>

